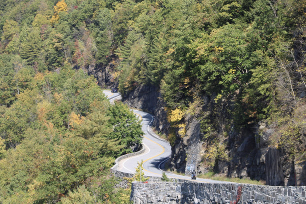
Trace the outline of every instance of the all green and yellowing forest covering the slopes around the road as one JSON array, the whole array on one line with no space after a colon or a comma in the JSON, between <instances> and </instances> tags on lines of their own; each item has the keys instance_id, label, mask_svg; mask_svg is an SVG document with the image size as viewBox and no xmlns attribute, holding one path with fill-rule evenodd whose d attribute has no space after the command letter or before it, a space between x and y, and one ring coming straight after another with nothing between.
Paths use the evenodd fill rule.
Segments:
<instances>
[{"instance_id":1,"label":"all green and yellowing forest covering the slopes around the road","mask_svg":"<svg viewBox=\"0 0 306 204\"><path fill-rule=\"evenodd\" d=\"M227 132L259 121L274 125L269 145L305 160L305 9L306 0L1 0L0 201L128 196L107 169L139 143L140 124L85 72L109 63L122 94L158 87L172 145L184 114L211 98L199 112L211 168L228 159Z\"/></svg>"}]
</instances>

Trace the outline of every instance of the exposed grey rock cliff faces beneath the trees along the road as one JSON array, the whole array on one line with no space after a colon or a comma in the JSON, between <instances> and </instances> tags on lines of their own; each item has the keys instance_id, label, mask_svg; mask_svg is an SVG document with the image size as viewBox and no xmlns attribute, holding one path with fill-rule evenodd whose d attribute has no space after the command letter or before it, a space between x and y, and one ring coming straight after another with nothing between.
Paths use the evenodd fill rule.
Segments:
<instances>
[{"instance_id":1,"label":"exposed grey rock cliff faces beneath the trees along the road","mask_svg":"<svg viewBox=\"0 0 306 204\"><path fill-rule=\"evenodd\" d=\"M170 124L167 121L165 102L156 87L138 86L123 95L122 100L131 107L153 113L155 129L169 133ZM203 96L202 100L202 106L197 107L200 109L198 112L208 109L208 104L211 103L207 96ZM206 172L207 166L202 161L206 144L200 127L201 115L186 114L183 122L186 124L186 133L181 137L176 130L170 168L186 174L193 169L198 173ZM280 149L269 147L269 137L274 131L274 126L267 126L264 122L259 122L255 128L244 128L239 132L231 125L228 136L220 141L226 143L225 153L229 160L216 160L214 170L230 177L265 180L269 185L305 185L306 161L290 160ZM306 141L305 137L302 139Z\"/></svg>"}]
</instances>

